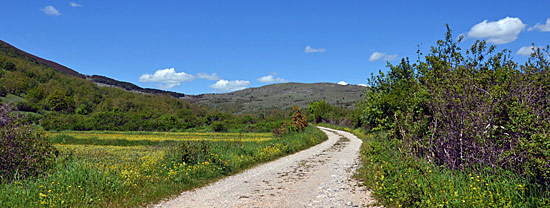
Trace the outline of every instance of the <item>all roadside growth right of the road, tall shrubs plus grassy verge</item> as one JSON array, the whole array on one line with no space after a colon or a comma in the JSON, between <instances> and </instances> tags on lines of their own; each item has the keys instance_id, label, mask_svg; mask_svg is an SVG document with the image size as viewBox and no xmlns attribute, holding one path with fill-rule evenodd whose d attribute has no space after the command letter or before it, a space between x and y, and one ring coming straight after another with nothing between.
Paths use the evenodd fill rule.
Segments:
<instances>
[{"instance_id":1,"label":"all roadside growth right of the road, tall shrubs plus grassy verge","mask_svg":"<svg viewBox=\"0 0 550 208\"><path fill-rule=\"evenodd\" d=\"M373 75L353 112L310 117L364 140L358 177L385 206L549 207L549 48L520 65L459 45L448 30L416 63Z\"/></svg>"}]
</instances>

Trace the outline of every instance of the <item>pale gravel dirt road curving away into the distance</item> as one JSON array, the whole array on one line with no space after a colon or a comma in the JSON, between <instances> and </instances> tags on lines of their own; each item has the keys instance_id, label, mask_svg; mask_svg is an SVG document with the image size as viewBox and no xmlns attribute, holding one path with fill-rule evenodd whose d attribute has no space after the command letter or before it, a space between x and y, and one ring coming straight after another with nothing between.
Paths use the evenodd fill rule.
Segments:
<instances>
[{"instance_id":1,"label":"pale gravel dirt road curving away into the distance","mask_svg":"<svg viewBox=\"0 0 550 208\"><path fill-rule=\"evenodd\" d=\"M319 127L328 140L155 207L364 207L374 201L351 175L361 140Z\"/></svg>"}]
</instances>

